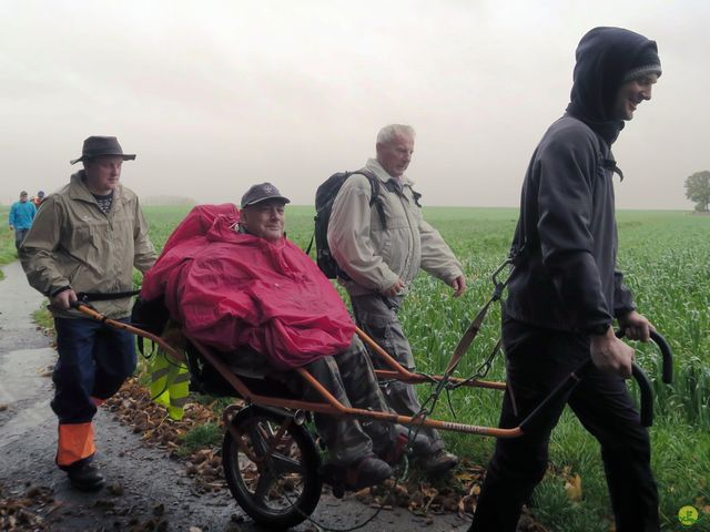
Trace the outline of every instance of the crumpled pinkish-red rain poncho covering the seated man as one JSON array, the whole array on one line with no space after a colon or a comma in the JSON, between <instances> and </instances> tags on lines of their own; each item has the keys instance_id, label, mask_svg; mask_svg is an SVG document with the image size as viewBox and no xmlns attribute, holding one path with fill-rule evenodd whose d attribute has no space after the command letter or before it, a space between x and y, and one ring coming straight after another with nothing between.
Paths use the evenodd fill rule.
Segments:
<instances>
[{"instance_id":1,"label":"crumpled pinkish-red rain poncho covering the seated man","mask_svg":"<svg viewBox=\"0 0 710 532\"><path fill-rule=\"evenodd\" d=\"M345 350L355 326L337 291L285 237L237 233L232 204L193 208L145 274L141 297L165 297L189 338L221 351L250 346L277 369Z\"/></svg>"}]
</instances>

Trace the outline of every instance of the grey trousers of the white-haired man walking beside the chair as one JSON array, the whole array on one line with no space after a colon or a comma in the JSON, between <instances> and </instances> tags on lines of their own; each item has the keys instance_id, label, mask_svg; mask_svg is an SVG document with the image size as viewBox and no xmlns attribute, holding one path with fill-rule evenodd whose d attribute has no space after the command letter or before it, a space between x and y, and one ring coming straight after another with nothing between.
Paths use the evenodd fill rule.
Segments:
<instances>
[{"instance_id":1,"label":"grey trousers of the white-haired man walking beside the chair","mask_svg":"<svg viewBox=\"0 0 710 532\"><path fill-rule=\"evenodd\" d=\"M404 335L402 324L397 319L402 299L403 296L385 297L378 294L351 296L357 326L402 366L414 370L412 347L409 347L409 340ZM369 352L375 368L389 369L388 366L381 361L379 355L373 351ZM419 412L422 406L413 385L390 380L381 382L379 386L387 402L397 413L414 416ZM423 428L419 433L429 438L432 453L444 449L444 441L435 429Z\"/></svg>"}]
</instances>

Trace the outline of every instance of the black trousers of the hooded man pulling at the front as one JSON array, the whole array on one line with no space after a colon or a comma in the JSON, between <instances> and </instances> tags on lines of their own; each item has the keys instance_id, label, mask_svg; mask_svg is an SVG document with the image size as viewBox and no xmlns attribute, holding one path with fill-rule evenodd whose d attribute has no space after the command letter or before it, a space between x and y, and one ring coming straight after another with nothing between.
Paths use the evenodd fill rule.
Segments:
<instances>
[{"instance_id":1,"label":"black trousers of the hooded man pulling at the front","mask_svg":"<svg viewBox=\"0 0 710 532\"><path fill-rule=\"evenodd\" d=\"M549 391L589 358L586 336L503 324L508 391L501 428L517 427ZM648 431L620 377L590 370L567 405L599 441L617 532L658 531L658 491L650 468ZM547 469L550 432L565 402L550 409L544 428L516 439L499 439L478 499L471 531L514 532L523 504Z\"/></svg>"}]
</instances>

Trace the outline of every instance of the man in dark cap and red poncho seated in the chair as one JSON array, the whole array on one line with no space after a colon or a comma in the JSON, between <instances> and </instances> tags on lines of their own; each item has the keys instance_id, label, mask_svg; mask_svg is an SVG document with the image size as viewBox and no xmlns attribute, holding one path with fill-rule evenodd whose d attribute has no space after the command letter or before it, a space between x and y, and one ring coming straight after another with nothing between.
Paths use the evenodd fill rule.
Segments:
<instances>
[{"instance_id":1,"label":"man in dark cap and red poncho seated in the chair","mask_svg":"<svg viewBox=\"0 0 710 532\"><path fill-rule=\"evenodd\" d=\"M143 279L141 296L164 297L182 332L244 364L245 346L280 371L303 367L337 400L355 408L390 411L347 308L311 258L285 236L288 198L270 183L252 186L242 208L203 205L180 224ZM248 364L248 362L247 362ZM323 402L304 386L304 399ZM393 473L406 429L315 415L331 460L346 483L363 488ZM405 436L403 436L405 434ZM399 444L398 444L399 443ZM426 453L414 438L414 454Z\"/></svg>"}]
</instances>

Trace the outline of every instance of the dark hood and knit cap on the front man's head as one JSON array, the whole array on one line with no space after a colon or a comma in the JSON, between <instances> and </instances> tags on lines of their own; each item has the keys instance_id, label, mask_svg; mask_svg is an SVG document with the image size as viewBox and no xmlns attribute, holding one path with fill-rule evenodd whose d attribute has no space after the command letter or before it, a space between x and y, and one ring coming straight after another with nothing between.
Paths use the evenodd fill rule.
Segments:
<instances>
[{"instance_id":1,"label":"dark hood and knit cap on the front man's head","mask_svg":"<svg viewBox=\"0 0 710 532\"><path fill-rule=\"evenodd\" d=\"M656 41L623 28L589 30L577 47L567 112L586 122L607 142L613 142L623 127L623 123L611 115L617 92L629 72L647 66L637 60L643 62L649 57L658 60L652 71L660 74Z\"/></svg>"}]
</instances>

